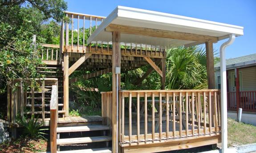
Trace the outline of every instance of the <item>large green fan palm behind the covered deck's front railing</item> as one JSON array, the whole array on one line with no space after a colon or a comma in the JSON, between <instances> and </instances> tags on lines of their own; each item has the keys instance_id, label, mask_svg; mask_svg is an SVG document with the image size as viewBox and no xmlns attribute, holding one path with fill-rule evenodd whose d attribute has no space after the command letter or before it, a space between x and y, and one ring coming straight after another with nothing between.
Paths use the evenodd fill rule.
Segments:
<instances>
[{"instance_id":1,"label":"large green fan palm behind the covered deck's front railing","mask_svg":"<svg viewBox=\"0 0 256 153\"><path fill-rule=\"evenodd\" d=\"M207 87L206 54L201 48L171 48L167 51L166 64L167 89Z\"/></svg>"}]
</instances>

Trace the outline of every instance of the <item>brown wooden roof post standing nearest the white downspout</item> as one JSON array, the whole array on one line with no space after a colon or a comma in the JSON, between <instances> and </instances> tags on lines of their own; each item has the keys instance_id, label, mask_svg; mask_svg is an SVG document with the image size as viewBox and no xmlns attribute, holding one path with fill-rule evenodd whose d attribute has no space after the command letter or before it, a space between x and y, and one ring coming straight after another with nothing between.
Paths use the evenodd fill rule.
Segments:
<instances>
[{"instance_id":1,"label":"brown wooden roof post standing nearest the white downspout","mask_svg":"<svg viewBox=\"0 0 256 153\"><path fill-rule=\"evenodd\" d=\"M208 89L214 89L215 82L214 82L213 43L211 41L205 42L205 48L206 48L206 68L207 68ZM213 99L213 97L211 99ZM214 102L212 101L211 106L213 106L213 105L214 105ZM213 107L211 107L211 112L214 112ZM213 122L214 115L211 115L212 124L214 124L214 122Z\"/></svg>"}]
</instances>

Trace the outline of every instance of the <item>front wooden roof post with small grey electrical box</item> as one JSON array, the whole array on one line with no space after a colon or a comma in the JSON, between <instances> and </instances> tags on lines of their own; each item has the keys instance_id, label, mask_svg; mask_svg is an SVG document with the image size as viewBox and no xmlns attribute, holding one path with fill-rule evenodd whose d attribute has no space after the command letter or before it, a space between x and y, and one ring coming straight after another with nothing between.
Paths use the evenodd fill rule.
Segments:
<instances>
[{"instance_id":1,"label":"front wooden roof post with small grey electrical box","mask_svg":"<svg viewBox=\"0 0 256 153\"><path fill-rule=\"evenodd\" d=\"M118 99L116 98L117 94L117 77L115 74L115 68L121 67L121 48L120 48L120 32L113 31L112 32L112 42L113 42L113 55L112 55L112 153L116 153L116 145L117 145L117 102ZM120 89L120 79L121 75L118 75L118 89Z\"/></svg>"}]
</instances>

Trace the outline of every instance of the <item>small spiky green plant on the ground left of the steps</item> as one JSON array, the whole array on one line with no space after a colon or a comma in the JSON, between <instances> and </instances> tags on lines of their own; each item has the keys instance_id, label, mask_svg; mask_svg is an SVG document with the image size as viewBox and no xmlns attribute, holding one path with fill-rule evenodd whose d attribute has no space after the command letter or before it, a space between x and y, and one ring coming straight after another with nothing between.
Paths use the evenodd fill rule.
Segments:
<instances>
[{"instance_id":1,"label":"small spiky green plant on the ground left of the steps","mask_svg":"<svg viewBox=\"0 0 256 153\"><path fill-rule=\"evenodd\" d=\"M44 124L44 122L38 121L38 118L35 118L34 115L31 116L31 118L25 118L24 116L21 116L17 118L18 124L20 124L22 127L24 127L23 133L25 136L31 137L31 138L38 138L42 137L42 134L45 134L41 131L46 129L41 129L41 126Z\"/></svg>"}]
</instances>

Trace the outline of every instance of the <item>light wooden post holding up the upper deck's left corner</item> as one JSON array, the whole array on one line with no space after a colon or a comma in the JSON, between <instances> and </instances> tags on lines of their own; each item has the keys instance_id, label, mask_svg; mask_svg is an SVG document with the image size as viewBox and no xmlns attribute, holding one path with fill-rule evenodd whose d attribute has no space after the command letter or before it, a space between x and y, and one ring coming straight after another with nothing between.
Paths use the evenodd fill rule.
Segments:
<instances>
[{"instance_id":1,"label":"light wooden post holding up the upper deck's left corner","mask_svg":"<svg viewBox=\"0 0 256 153\"><path fill-rule=\"evenodd\" d=\"M69 116L69 53L64 53L64 110L65 117Z\"/></svg>"}]
</instances>

